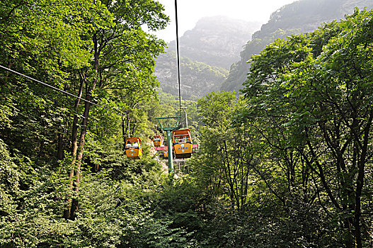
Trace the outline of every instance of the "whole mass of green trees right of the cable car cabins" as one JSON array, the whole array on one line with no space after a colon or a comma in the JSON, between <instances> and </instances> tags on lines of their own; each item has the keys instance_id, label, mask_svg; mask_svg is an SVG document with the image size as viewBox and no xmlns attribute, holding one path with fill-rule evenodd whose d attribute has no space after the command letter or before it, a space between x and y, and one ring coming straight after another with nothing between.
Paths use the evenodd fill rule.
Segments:
<instances>
[{"instance_id":1,"label":"whole mass of green trees right of the cable car cabins","mask_svg":"<svg viewBox=\"0 0 373 248\"><path fill-rule=\"evenodd\" d=\"M244 99L199 101L195 176L226 211L212 247L372 245L372 16L275 40Z\"/></svg>"}]
</instances>

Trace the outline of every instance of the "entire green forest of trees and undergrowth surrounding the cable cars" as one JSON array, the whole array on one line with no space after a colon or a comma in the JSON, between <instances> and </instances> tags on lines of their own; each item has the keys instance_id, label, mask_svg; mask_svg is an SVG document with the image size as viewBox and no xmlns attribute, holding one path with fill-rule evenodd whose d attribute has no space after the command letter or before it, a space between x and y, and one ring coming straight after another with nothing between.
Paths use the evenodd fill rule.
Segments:
<instances>
[{"instance_id":1,"label":"entire green forest of trees and undergrowth surrounding the cable cars","mask_svg":"<svg viewBox=\"0 0 373 248\"><path fill-rule=\"evenodd\" d=\"M157 1L0 9L1 66L81 97L0 68L0 247L372 247L373 11L275 40L239 98L183 101L199 150L168 176Z\"/></svg>"}]
</instances>

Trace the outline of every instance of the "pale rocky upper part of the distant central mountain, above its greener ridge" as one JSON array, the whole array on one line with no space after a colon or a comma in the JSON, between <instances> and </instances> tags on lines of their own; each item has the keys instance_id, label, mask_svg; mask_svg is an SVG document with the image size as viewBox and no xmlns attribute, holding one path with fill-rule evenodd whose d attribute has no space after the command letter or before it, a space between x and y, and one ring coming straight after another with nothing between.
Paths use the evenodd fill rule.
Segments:
<instances>
[{"instance_id":1,"label":"pale rocky upper part of the distant central mountain, above its greener ridge","mask_svg":"<svg viewBox=\"0 0 373 248\"><path fill-rule=\"evenodd\" d=\"M195 28L179 39L180 55L216 67L229 69L239 59L243 45L260 28L260 23L250 23L226 16L200 19ZM176 49L176 41L168 44L168 50Z\"/></svg>"}]
</instances>

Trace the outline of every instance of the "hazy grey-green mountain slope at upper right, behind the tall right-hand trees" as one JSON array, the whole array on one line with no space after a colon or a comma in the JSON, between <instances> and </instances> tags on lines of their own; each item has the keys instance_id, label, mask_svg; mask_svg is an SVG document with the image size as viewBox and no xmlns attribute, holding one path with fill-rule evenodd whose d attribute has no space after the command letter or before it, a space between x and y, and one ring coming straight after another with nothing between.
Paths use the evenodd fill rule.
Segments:
<instances>
[{"instance_id":1,"label":"hazy grey-green mountain slope at upper right, behind the tall right-hand trees","mask_svg":"<svg viewBox=\"0 0 373 248\"><path fill-rule=\"evenodd\" d=\"M252 55L258 54L265 45L277 38L286 38L295 33L307 33L322 23L339 20L345 14L359 9L373 8L372 0L300 0L282 6L270 16L268 23L253 34L241 51L241 60L232 64L229 76L222 84L223 91L238 91L246 80L250 69L247 63Z\"/></svg>"}]
</instances>

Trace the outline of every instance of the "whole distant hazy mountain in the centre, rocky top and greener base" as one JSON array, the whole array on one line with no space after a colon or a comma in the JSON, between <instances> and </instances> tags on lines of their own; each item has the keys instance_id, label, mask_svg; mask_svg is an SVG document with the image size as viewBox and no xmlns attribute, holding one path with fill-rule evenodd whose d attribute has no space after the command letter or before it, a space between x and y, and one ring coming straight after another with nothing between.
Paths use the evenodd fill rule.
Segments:
<instances>
[{"instance_id":1,"label":"whole distant hazy mountain in the centre, rocky top and greener base","mask_svg":"<svg viewBox=\"0 0 373 248\"><path fill-rule=\"evenodd\" d=\"M200 98L221 88L231 64L251 38L259 23L225 16L200 19L195 28L180 37L180 84L184 99ZM168 43L166 54L156 59L155 75L161 89L178 95L176 41Z\"/></svg>"}]
</instances>

